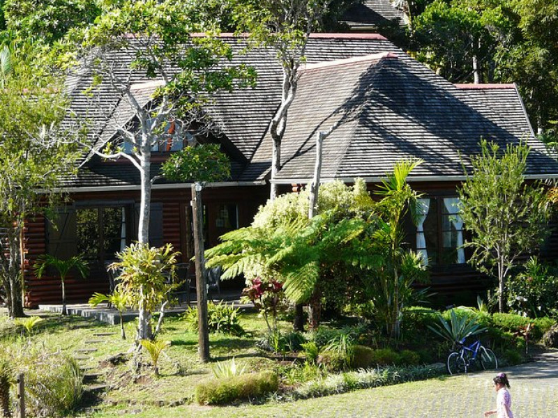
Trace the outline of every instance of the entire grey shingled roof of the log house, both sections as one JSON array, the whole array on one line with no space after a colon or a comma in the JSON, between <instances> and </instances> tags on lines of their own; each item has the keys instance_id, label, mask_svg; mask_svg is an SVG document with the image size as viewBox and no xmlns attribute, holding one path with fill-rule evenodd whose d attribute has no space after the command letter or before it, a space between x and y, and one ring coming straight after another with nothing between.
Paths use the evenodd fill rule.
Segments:
<instances>
[{"instance_id":1,"label":"entire grey shingled roof of the log house, both sections","mask_svg":"<svg viewBox=\"0 0 558 418\"><path fill-rule=\"evenodd\" d=\"M233 65L255 68L257 87L218 93L206 111L222 127L223 143L234 148L232 180L261 182L269 177L271 139L266 131L280 104L281 70L271 49L241 54L245 38L223 39L236 52ZM462 176L459 153L478 153L481 137L500 144L526 139L533 148L529 174L558 173L557 163L534 139L513 85L454 86L375 34L315 34L306 56L308 65L289 110L280 183L308 182L315 161L315 130L340 119L324 144L324 179L377 179L408 157L425 160L413 173L416 180ZM126 57L114 52L123 70ZM134 81L146 78L138 73ZM108 82L98 87L92 102L82 93L90 83L87 75L71 81L72 107L78 117L93 122L91 135L102 143L132 113ZM142 91L141 100L148 103L152 89ZM158 166L153 164L153 169ZM77 179L66 182L73 187L137 184L139 173L133 167L95 159L82 167Z\"/></svg>"}]
</instances>

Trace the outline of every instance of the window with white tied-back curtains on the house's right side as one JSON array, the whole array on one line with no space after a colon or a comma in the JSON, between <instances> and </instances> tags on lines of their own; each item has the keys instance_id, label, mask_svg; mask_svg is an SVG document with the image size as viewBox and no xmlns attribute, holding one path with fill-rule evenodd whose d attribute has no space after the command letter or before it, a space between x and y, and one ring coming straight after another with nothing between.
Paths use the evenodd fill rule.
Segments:
<instances>
[{"instance_id":1,"label":"window with white tied-back curtains on the house's right side","mask_svg":"<svg viewBox=\"0 0 558 418\"><path fill-rule=\"evenodd\" d=\"M465 263L459 204L456 197L418 199L415 249L427 265Z\"/></svg>"}]
</instances>

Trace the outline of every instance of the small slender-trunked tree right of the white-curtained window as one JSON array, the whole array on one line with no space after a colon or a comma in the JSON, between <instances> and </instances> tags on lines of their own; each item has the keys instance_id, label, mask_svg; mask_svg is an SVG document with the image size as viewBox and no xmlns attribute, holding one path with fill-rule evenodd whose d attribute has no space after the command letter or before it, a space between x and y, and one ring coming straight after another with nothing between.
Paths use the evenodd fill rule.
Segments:
<instances>
[{"instance_id":1,"label":"small slender-trunked tree right of the white-curtained window","mask_svg":"<svg viewBox=\"0 0 558 418\"><path fill-rule=\"evenodd\" d=\"M481 142L481 154L471 157L472 172L458 193L460 215L472 238L469 264L495 277L499 311L504 311L506 279L518 257L536 251L548 233L550 204L545 189L525 182L529 148Z\"/></svg>"}]
</instances>

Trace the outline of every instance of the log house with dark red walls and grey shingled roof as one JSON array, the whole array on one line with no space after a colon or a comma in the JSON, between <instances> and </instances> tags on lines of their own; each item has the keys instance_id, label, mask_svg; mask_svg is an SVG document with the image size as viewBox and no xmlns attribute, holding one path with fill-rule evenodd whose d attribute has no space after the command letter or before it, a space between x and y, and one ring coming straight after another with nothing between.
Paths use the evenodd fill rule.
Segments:
<instances>
[{"instance_id":1,"label":"log house with dark red walls and grey shingled roof","mask_svg":"<svg viewBox=\"0 0 558 418\"><path fill-rule=\"evenodd\" d=\"M223 37L236 51L246 46L243 38ZM250 224L269 196L267 127L280 101L280 68L266 49L237 54L234 62L252 65L258 84L254 89L218 93L206 106L221 127L211 140L218 141L232 160L232 178L204 190L206 246L215 245L223 233ZM116 127L128 123L132 114L105 82L98 88L98 100L91 102L82 93L90 82L91 77L83 75L68 83L73 111L93 121L91 135L112 141ZM135 88L145 106L154 86L137 79ZM455 216L462 163L467 167L467 156L478 153L478 141L485 138L502 145L527 141L531 146L527 177L558 176L558 163L535 139L513 84L453 85L377 34L322 33L310 38L306 69L289 110L282 169L273 180L282 192L310 182L315 132L333 124L338 127L324 142L323 181L352 183L361 177L372 190L398 160L424 161L409 178L424 196L421 222L418 227L408 222L407 241L428 258L432 288L441 293L480 291L485 286L465 264L465 251L458 248L463 231ZM154 171L174 149L160 147L153 153ZM95 291L107 291L106 263L137 237L139 174L125 160L92 157L77 178L65 179L63 186L71 203L60 208L54 222L34 219L27 224L26 256L32 263L45 251L61 258L84 254L91 277L66 281L68 301L82 301ZM183 261L188 260L193 255L191 219L190 185L155 183L151 243L169 242L181 251ZM59 281L38 280L31 270L26 291L27 306L59 302Z\"/></svg>"}]
</instances>

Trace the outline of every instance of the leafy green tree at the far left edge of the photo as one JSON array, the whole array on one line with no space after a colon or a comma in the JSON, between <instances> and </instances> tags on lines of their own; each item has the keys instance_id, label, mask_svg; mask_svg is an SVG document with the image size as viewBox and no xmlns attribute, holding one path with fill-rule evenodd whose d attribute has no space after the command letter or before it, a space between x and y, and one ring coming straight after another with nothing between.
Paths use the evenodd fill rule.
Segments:
<instances>
[{"instance_id":1,"label":"leafy green tree at the far left edge of the photo","mask_svg":"<svg viewBox=\"0 0 558 418\"><path fill-rule=\"evenodd\" d=\"M23 230L60 201L59 178L75 169L79 130L63 130L66 105L54 79L39 79L20 56L0 91L0 279L10 317L23 316Z\"/></svg>"}]
</instances>

